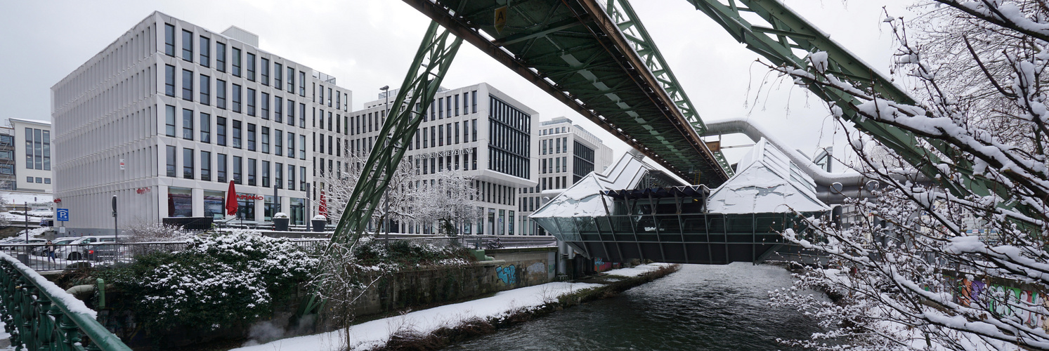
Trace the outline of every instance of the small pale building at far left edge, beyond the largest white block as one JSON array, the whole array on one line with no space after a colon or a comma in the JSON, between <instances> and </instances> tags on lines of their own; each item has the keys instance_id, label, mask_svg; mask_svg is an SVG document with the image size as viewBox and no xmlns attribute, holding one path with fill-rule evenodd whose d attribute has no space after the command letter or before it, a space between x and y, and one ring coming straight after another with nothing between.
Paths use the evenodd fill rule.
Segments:
<instances>
[{"instance_id":1,"label":"small pale building at far left edge, beyond the largest white block","mask_svg":"<svg viewBox=\"0 0 1049 351\"><path fill-rule=\"evenodd\" d=\"M15 190L51 193L51 124L44 120L8 118L15 136ZM2 152L0 152L2 154ZM22 157L24 156L24 158ZM0 159L4 156L0 155ZM21 164L18 164L21 163ZM0 166L2 167L2 166ZM0 170L3 173L3 170Z\"/></svg>"}]
</instances>

